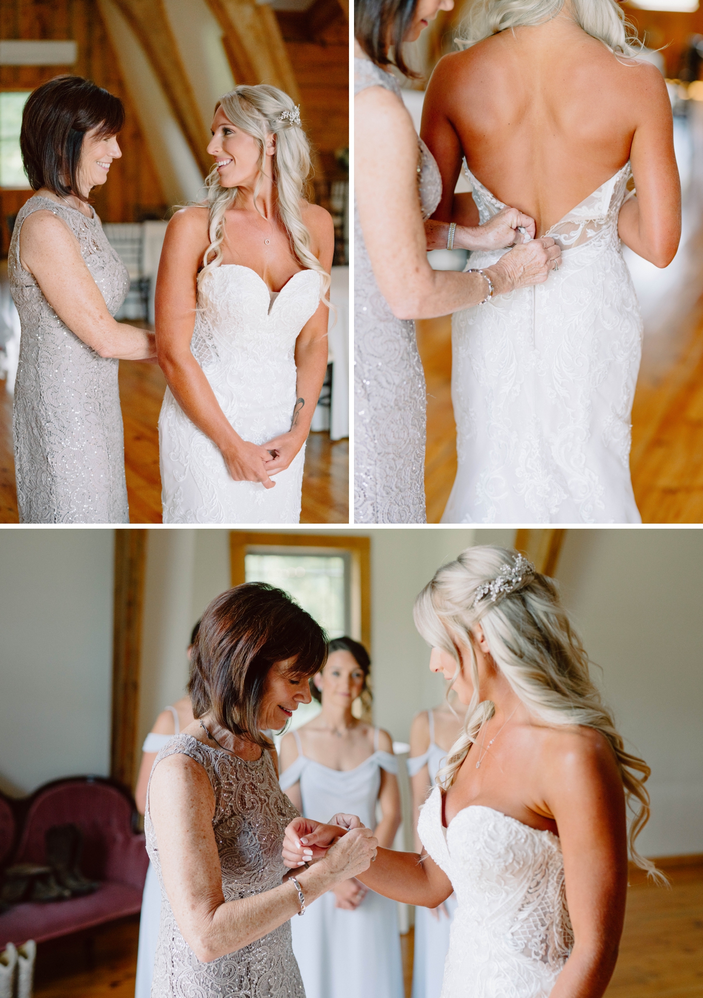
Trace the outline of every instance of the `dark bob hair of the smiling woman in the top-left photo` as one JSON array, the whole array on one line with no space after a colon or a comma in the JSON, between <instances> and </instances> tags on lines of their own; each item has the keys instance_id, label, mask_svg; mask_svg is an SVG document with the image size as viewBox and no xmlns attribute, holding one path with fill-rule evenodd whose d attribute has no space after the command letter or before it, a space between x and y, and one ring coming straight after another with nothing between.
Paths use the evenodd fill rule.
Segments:
<instances>
[{"instance_id":1,"label":"dark bob hair of the smiling woman in the top-left photo","mask_svg":"<svg viewBox=\"0 0 703 998\"><path fill-rule=\"evenodd\" d=\"M83 140L117 135L125 124L125 108L109 94L80 76L57 76L30 95L22 114L20 149L33 191L46 188L57 198L74 195L81 201L79 169Z\"/></svg>"}]
</instances>

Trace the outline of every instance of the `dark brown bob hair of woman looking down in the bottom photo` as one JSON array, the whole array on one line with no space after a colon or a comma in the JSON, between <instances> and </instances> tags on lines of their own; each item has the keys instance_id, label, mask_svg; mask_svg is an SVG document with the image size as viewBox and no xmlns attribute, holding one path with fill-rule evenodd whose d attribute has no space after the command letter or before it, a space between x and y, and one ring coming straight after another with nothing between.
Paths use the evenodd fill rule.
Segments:
<instances>
[{"instance_id":1,"label":"dark brown bob hair of woman looking down in the bottom photo","mask_svg":"<svg viewBox=\"0 0 703 998\"><path fill-rule=\"evenodd\" d=\"M307 680L327 660L327 635L280 589L247 582L217 596L200 620L187 693L193 718L208 712L222 728L262 749L261 698L269 670L293 659L291 677Z\"/></svg>"}]
</instances>

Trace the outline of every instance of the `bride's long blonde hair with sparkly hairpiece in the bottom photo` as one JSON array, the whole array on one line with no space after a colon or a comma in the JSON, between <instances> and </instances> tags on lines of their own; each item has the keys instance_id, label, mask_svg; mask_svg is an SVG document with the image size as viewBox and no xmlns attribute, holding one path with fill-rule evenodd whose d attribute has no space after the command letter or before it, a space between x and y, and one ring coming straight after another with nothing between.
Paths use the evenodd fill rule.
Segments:
<instances>
[{"instance_id":1,"label":"bride's long blonde hair with sparkly hairpiece in the bottom photo","mask_svg":"<svg viewBox=\"0 0 703 998\"><path fill-rule=\"evenodd\" d=\"M628 832L632 861L665 881L634 844L649 819L649 794L644 783L650 768L643 759L625 751L612 715L590 679L588 656L561 606L554 582L538 572L527 573L512 593L500 595L495 603L482 599L474 606L479 587L496 579L517 557L518 552L495 546L467 548L456 561L435 573L415 601L415 625L422 637L431 647L454 657L457 675L468 668L474 685L462 734L447 753L437 781L449 789L482 726L496 710L492 701L480 700L471 634L481 622L494 663L530 714L554 727L593 728L608 740L633 815Z\"/></svg>"}]
</instances>

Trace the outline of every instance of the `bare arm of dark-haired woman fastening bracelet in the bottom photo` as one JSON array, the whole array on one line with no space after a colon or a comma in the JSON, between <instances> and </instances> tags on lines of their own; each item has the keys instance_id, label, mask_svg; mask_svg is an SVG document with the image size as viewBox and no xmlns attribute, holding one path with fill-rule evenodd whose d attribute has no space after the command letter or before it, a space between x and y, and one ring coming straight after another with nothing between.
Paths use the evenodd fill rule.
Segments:
<instances>
[{"instance_id":1,"label":"bare arm of dark-haired woman fastening bracelet in the bottom photo","mask_svg":"<svg viewBox=\"0 0 703 998\"><path fill-rule=\"evenodd\" d=\"M207 774L193 759L180 753L162 759L152 777L149 810L166 892L181 935L198 960L235 952L297 914L297 890L287 882L240 900L224 900L212 831L214 795ZM358 874L375 847L368 828L355 828L320 862L296 872L306 903Z\"/></svg>"}]
</instances>

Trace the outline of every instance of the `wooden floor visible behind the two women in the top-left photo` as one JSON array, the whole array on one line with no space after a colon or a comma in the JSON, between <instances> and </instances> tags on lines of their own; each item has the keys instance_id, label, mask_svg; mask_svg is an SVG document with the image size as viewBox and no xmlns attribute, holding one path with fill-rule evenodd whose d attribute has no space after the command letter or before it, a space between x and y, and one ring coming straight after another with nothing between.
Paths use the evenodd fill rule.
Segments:
<instances>
[{"instance_id":1,"label":"wooden floor visible behind the two women in the top-left photo","mask_svg":"<svg viewBox=\"0 0 703 998\"><path fill-rule=\"evenodd\" d=\"M166 379L157 364L120 362L125 470L132 523L161 523L158 420ZM349 522L349 441L311 433L305 454L301 523ZM0 523L17 523L12 398L0 381Z\"/></svg>"}]
</instances>

